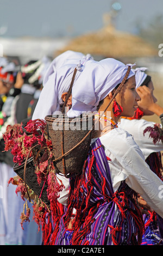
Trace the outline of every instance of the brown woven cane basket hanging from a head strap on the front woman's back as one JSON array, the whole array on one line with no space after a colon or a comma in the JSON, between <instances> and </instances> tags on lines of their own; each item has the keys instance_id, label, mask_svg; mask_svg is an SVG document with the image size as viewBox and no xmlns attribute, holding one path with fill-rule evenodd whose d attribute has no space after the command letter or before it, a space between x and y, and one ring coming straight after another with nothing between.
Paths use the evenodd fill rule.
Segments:
<instances>
[{"instance_id":1,"label":"brown woven cane basket hanging from a head strap on the front woman's back","mask_svg":"<svg viewBox=\"0 0 163 256\"><path fill-rule=\"evenodd\" d=\"M83 114L77 118L47 115L45 120L56 172L65 176L79 174L90 147L93 115Z\"/></svg>"}]
</instances>

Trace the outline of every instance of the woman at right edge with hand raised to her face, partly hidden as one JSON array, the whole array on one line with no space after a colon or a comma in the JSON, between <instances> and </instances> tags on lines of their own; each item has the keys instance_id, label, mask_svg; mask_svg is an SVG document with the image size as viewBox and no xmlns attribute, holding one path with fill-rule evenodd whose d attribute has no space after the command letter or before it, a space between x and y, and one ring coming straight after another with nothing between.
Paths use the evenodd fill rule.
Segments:
<instances>
[{"instance_id":1,"label":"woman at right edge with hand raised to her face, partly hidden","mask_svg":"<svg viewBox=\"0 0 163 256\"><path fill-rule=\"evenodd\" d=\"M146 74L146 70L146 68L137 68L134 70L137 93L140 95L141 100L138 102L139 107L134 117L122 118L119 127L122 127L134 136L135 142L142 150L149 167L162 180L160 151L163 150L163 143L161 140L153 143L153 140L149 137L149 133L144 134L147 127L153 127L155 123L141 119L143 115L152 115L154 113L157 114L160 119L163 117L163 108L156 104L156 98L153 95L154 86L151 76ZM163 123L163 120L161 123ZM149 216L143 216L145 223L148 223L148 225L145 229L145 234L143 234L142 245L162 245L163 220L159 215L156 215L156 217L154 211L149 211L148 214ZM157 221L155 221L155 218Z\"/></svg>"}]
</instances>

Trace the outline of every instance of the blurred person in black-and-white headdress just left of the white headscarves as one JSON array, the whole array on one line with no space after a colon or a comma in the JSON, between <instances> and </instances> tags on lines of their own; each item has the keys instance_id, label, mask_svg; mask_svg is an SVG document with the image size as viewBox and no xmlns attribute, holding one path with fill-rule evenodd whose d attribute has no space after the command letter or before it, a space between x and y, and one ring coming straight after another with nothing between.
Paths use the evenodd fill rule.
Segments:
<instances>
[{"instance_id":1,"label":"blurred person in black-and-white headdress just left of the white headscarves","mask_svg":"<svg viewBox=\"0 0 163 256\"><path fill-rule=\"evenodd\" d=\"M43 57L40 60L30 60L21 66L24 83L16 102L15 118L17 123L30 119L40 96L43 76L50 63L49 58Z\"/></svg>"}]
</instances>

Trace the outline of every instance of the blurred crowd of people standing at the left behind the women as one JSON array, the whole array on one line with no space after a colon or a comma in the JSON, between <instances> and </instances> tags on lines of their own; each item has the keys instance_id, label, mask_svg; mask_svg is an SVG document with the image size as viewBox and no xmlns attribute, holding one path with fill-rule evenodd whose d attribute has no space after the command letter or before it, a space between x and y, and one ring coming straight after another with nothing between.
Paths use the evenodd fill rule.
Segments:
<instances>
[{"instance_id":1,"label":"blurred crowd of people standing at the left behind the women","mask_svg":"<svg viewBox=\"0 0 163 256\"><path fill-rule=\"evenodd\" d=\"M4 151L3 133L8 125L22 124L31 119L42 90L43 76L51 63L48 57L17 65L0 58L0 245L40 245L41 231L32 220L20 225L23 209L16 186L8 181L15 176L13 156ZM32 204L30 204L32 211Z\"/></svg>"}]
</instances>

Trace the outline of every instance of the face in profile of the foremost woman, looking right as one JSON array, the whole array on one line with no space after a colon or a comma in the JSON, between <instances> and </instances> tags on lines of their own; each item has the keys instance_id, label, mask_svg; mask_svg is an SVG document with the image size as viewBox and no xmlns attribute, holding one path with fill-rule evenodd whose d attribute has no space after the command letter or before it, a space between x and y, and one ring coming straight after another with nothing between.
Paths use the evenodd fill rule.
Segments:
<instances>
[{"instance_id":1,"label":"face in profile of the foremost woman, looking right","mask_svg":"<svg viewBox=\"0 0 163 256\"><path fill-rule=\"evenodd\" d=\"M136 92L135 76L132 76L124 84L120 93L116 96L116 101L123 108L120 116L132 117L136 111L137 101L140 100L139 94Z\"/></svg>"}]
</instances>

